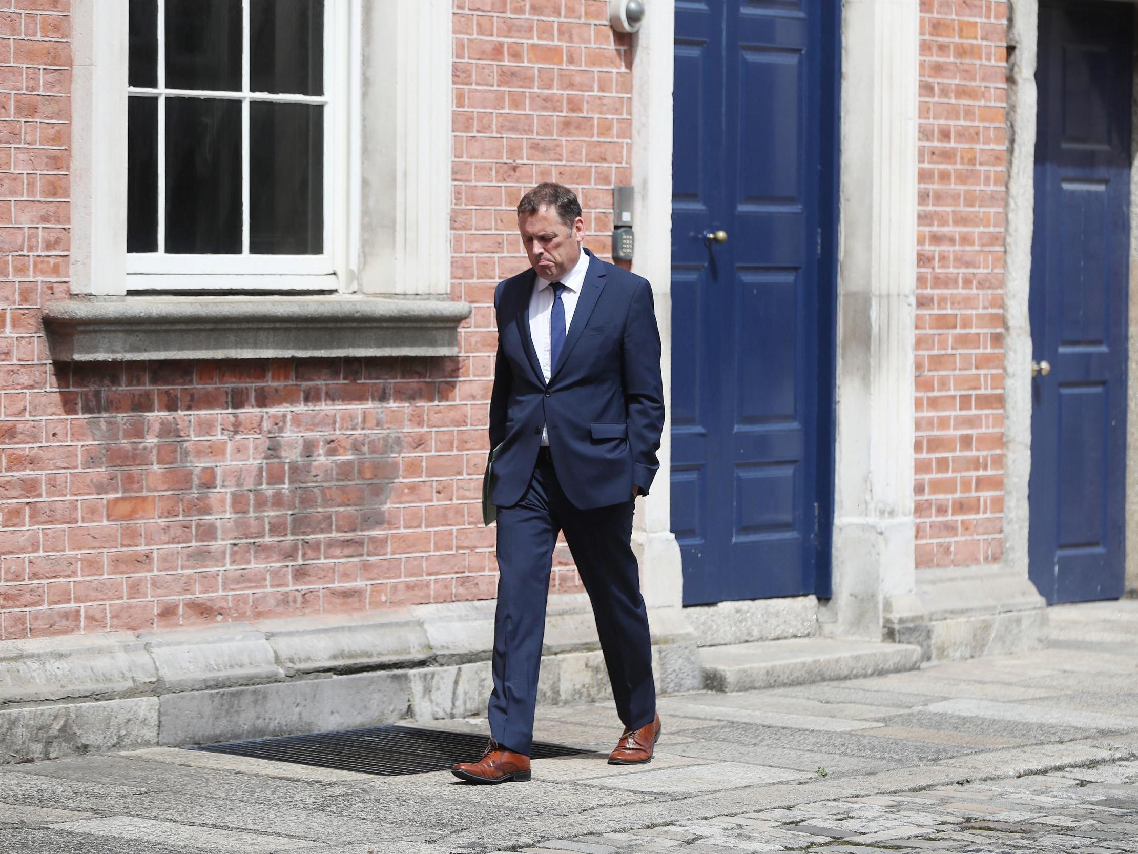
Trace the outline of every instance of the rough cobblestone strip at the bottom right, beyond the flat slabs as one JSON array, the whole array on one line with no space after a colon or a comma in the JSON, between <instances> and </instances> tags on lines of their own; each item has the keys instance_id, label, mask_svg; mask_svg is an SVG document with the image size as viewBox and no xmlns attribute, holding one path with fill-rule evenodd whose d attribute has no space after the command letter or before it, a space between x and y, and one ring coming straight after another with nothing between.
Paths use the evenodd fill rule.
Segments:
<instances>
[{"instance_id":1,"label":"rough cobblestone strip at the bottom right, beyond the flat slabs","mask_svg":"<svg viewBox=\"0 0 1138 854\"><path fill-rule=\"evenodd\" d=\"M556 854L1119 854L1138 852L1138 762L963 783L888 797L818 800L624 834L553 839Z\"/></svg>"}]
</instances>

